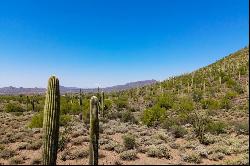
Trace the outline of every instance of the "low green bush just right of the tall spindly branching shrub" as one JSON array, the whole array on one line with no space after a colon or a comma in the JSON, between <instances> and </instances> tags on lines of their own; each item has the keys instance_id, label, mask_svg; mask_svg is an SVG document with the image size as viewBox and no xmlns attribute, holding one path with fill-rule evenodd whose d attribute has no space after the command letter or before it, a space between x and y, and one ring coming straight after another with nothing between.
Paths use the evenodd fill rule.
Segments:
<instances>
[{"instance_id":1,"label":"low green bush just right of the tall spindly branching shrub","mask_svg":"<svg viewBox=\"0 0 250 166\"><path fill-rule=\"evenodd\" d=\"M208 123L208 126L207 126L208 132L212 134L225 133L226 129L227 129L227 125L226 123L222 121L218 121L218 122L210 121L210 123Z\"/></svg>"}]
</instances>

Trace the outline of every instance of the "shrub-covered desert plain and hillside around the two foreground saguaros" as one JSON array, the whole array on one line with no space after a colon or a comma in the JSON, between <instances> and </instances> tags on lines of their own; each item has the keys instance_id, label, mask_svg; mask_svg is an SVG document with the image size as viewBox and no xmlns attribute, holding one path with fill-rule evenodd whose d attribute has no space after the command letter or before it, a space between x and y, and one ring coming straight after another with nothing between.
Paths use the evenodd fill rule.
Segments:
<instances>
[{"instance_id":1,"label":"shrub-covered desert plain and hillside around the two foreground saguaros","mask_svg":"<svg viewBox=\"0 0 250 166\"><path fill-rule=\"evenodd\" d=\"M61 95L57 164L88 164L93 95L100 164L249 164L249 47L104 98ZM44 105L44 95L0 96L0 165L41 164Z\"/></svg>"}]
</instances>

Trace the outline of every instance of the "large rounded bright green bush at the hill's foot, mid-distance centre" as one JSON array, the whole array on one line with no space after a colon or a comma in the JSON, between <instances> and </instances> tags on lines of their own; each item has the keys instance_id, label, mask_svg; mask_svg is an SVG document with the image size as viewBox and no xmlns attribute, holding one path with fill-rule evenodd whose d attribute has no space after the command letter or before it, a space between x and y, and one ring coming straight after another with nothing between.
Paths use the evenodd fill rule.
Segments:
<instances>
[{"instance_id":1,"label":"large rounded bright green bush at the hill's foot, mid-distance centre","mask_svg":"<svg viewBox=\"0 0 250 166\"><path fill-rule=\"evenodd\" d=\"M160 119L164 116L166 110L159 107L158 105L144 110L141 120L143 124L147 126L156 126L160 122Z\"/></svg>"}]
</instances>

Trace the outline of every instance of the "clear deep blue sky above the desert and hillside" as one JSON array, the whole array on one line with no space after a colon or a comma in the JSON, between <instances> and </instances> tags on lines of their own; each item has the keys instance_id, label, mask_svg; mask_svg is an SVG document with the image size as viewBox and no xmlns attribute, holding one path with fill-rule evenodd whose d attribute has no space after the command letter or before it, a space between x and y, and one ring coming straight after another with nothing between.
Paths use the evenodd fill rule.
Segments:
<instances>
[{"instance_id":1,"label":"clear deep blue sky above the desert and hillside","mask_svg":"<svg viewBox=\"0 0 250 166\"><path fill-rule=\"evenodd\" d=\"M191 72L249 45L248 0L0 1L0 87L106 87Z\"/></svg>"}]
</instances>

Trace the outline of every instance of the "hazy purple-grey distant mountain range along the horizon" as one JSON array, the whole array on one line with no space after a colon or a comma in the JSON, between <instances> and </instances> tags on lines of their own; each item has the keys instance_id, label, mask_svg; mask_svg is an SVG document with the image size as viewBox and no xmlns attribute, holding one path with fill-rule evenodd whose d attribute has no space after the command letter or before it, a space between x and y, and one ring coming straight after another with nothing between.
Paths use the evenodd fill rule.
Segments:
<instances>
[{"instance_id":1,"label":"hazy purple-grey distant mountain range along the horizon","mask_svg":"<svg viewBox=\"0 0 250 166\"><path fill-rule=\"evenodd\" d=\"M101 91L104 92L113 92L113 91L121 91L121 90L127 90L131 88L136 88L136 87L142 87L145 85L151 85L156 83L156 80L144 80L144 81L137 81L137 82L130 82L124 85L116 85L116 86L111 86L111 87L106 87L106 88L100 88ZM97 88L77 88L77 87L64 87L60 86L60 92L61 94L65 93L78 93L79 90L82 90L82 92L97 92ZM9 87L3 87L0 88L0 94L43 94L46 92L46 88L16 88L13 86Z\"/></svg>"}]
</instances>

